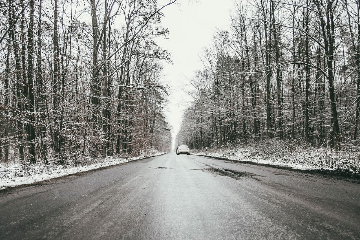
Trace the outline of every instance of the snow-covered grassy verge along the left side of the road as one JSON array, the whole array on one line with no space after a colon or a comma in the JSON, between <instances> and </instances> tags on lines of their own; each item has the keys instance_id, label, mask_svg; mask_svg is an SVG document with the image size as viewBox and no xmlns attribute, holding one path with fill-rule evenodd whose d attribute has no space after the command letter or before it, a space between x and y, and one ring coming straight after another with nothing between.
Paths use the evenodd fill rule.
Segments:
<instances>
[{"instance_id":1,"label":"snow-covered grassy verge along the left side of the road","mask_svg":"<svg viewBox=\"0 0 360 240\"><path fill-rule=\"evenodd\" d=\"M148 157L154 157L165 152L152 151L143 153L138 157L132 158L114 158L107 157L102 159L91 159L87 164L74 165L44 165L44 164L27 164L18 163L0 166L0 189L33 182L48 180L51 178L70 175L77 172L85 172L91 169L112 166L120 163L126 163Z\"/></svg>"}]
</instances>

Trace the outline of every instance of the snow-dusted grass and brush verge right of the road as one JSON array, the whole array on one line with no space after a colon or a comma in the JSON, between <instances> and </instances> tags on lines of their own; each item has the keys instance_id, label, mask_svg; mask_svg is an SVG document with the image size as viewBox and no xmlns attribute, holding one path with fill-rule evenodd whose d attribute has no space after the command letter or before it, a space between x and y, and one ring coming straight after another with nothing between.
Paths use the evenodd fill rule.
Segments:
<instances>
[{"instance_id":1,"label":"snow-dusted grass and brush verge right of the road","mask_svg":"<svg viewBox=\"0 0 360 240\"><path fill-rule=\"evenodd\" d=\"M295 169L340 170L351 175L360 174L360 150L350 147L336 151L332 148L313 148L298 146L293 142L266 140L235 148L209 149L207 154L204 151L194 154Z\"/></svg>"}]
</instances>

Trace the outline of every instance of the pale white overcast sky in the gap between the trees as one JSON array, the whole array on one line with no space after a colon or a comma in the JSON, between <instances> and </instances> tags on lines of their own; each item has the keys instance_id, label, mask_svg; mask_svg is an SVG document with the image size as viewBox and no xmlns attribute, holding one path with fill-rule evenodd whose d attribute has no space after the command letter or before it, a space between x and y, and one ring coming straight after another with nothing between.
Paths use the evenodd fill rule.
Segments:
<instances>
[{"instance_id":1,"label":"pale white overcast sky in the gap between the trees","mask_svg":"<svg viewBox=\"0 0 360 240\"><path fill-rule=\"evenodd\" d=\"M159 0L159 4L168 0ZM176 133L182 111L190 100L186 94L192 89L189 81L202 69L200 55L210 45L214 31L229 26L232 0L179 0L178 5L163 10L162 24L170 31L168 39L159 45L171 53L173 64L164 64L164 81L171 87L170 103L166 111L168 121ZM173 143L174 144L174 143Z\"/></svg>"}]
</instances>

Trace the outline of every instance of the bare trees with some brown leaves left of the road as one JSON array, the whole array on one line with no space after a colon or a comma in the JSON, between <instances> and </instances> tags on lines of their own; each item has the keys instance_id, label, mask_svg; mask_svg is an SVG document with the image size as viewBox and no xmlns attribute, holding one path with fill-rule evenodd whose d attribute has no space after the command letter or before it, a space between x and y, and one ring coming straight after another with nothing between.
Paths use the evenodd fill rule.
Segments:
<instances>
[{"instance_id":1,"label":"bare trees with some brown leaves left of the road","mask_svg":"<svg viewBox=\"0 0 360 240\"><path fill-rule=\"evenodd\" d=\"M1 0L1 162L167 149L156 39L175 1Z\"/></svg>"}]
</instances>

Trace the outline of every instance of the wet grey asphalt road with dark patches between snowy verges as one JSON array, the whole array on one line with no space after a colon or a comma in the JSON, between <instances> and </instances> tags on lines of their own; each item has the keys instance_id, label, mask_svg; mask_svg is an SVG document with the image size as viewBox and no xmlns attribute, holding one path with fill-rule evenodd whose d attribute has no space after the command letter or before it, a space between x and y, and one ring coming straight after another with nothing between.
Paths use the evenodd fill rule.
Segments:
<instances>
[{"instance_id":1,"label":"wet grey asphalt road with dark patches between snowy verges","mask_svg":"<svg viewBox=\"0 0 360 240\"><path fill-rule=\"evenodd\" d=\"M2 191L0 239L360 239L360 184L168 153Z\"/></svg>"}]
</instances>

